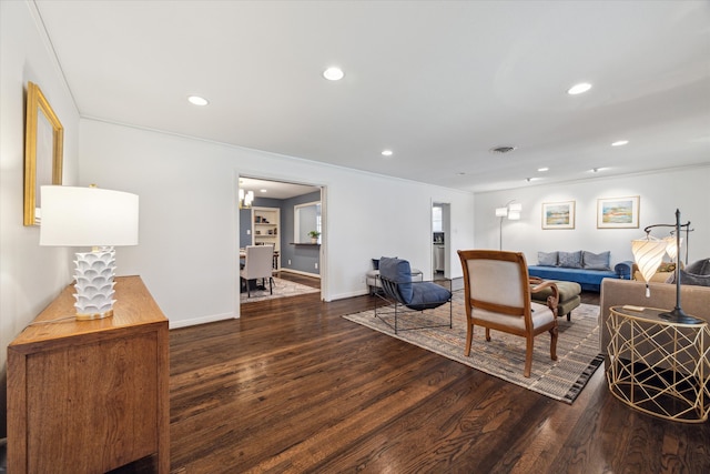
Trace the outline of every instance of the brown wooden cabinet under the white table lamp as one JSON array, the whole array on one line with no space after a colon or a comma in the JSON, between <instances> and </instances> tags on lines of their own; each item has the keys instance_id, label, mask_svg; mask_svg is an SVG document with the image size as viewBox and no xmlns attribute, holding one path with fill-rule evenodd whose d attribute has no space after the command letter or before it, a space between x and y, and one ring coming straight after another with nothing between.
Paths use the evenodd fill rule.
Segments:
<instances>
[{"instance_id":1,"label":"brown wooden cabinet under the white table lamp","mask_svg":"<svg viewBox=\"0 0 710 474\"><path fill-rule=\"evenodd\" d=\"M68 286L8 346L8 472L169 473L168 320L140 276L115 282L112 317L72 319Z\"/></svg>"}]
</instances>

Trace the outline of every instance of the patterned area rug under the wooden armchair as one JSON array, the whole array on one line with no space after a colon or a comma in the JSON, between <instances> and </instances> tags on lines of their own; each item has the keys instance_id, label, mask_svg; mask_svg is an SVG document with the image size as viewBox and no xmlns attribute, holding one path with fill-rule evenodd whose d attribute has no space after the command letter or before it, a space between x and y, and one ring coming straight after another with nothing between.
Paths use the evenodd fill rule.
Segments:
<instances>
[{"instance_id":1,"label":"patterned area rug under the wooden armchair","mask_svg":"<svg viewBox=\"0 0 710 474\"><path fill-rule=\"evenodd\" d=\"M575 401L604 361L599 353L599 306L592 304L582 303L575 309L571 321L567 321L566 317L557 320L557 361L550 360L549 334L535 337L532 371L529 379L523 376L524 337L491 331L491 340L486 342L485 330L477 327L474 330L470 356L466 357L466 310L462 291L454 293L453 312L453 329L446 325L426 330L400 330L397 335L379 317L375 317L374 311L343 317L568 404ZM394 315L385 319L389 319L394 324ZM448 323L448 305L426 311L423 315L410 313L406 317L398 317L398 322L399 327L406 327L407 324L415 326Z\"/></svg>"}]
</instances>

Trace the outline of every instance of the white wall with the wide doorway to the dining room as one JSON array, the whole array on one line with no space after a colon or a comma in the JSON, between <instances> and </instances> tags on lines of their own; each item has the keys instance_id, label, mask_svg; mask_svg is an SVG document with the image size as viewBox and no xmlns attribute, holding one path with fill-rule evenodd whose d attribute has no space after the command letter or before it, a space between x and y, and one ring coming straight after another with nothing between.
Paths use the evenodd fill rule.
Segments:
<instances>
[{"instance_id":1,"label":"white wall with the wide doorway to the dining room","mask_svg":"<svg viewBox=\"0 0 710 474\"><path fill-rule=\"evenodd\" d=\"M470 193L95 120L80 130L81 184L140 195L140 244L116 250L118 272L143 278L171 327L239 315L240 174L326 186L326 301L365 294L372 258L430 274L433 201L452 204L452 249L474 243Z\"/></svg>"}]
</instances>

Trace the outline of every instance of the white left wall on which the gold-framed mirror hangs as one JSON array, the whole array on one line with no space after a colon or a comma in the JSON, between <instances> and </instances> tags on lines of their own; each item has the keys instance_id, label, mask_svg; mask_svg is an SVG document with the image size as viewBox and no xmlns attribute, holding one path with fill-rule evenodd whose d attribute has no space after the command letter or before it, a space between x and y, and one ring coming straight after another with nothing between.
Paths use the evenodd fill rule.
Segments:
<instances>
[{"instance_id":1,"label":"white left wall on which the gold-framed mirror hangs","mask_svg":"<svg viewBox=\"0 0 710 474\"><path fill-rule=\"evenodd\" d=\"M4 433L7 346L70 280L68 249L40 248L39 228L22 224L24 101L37 83L64 128L63 181L78 178L79 115L33 7L0 1L0 434Z\"/></svg>"}]
</instances>

